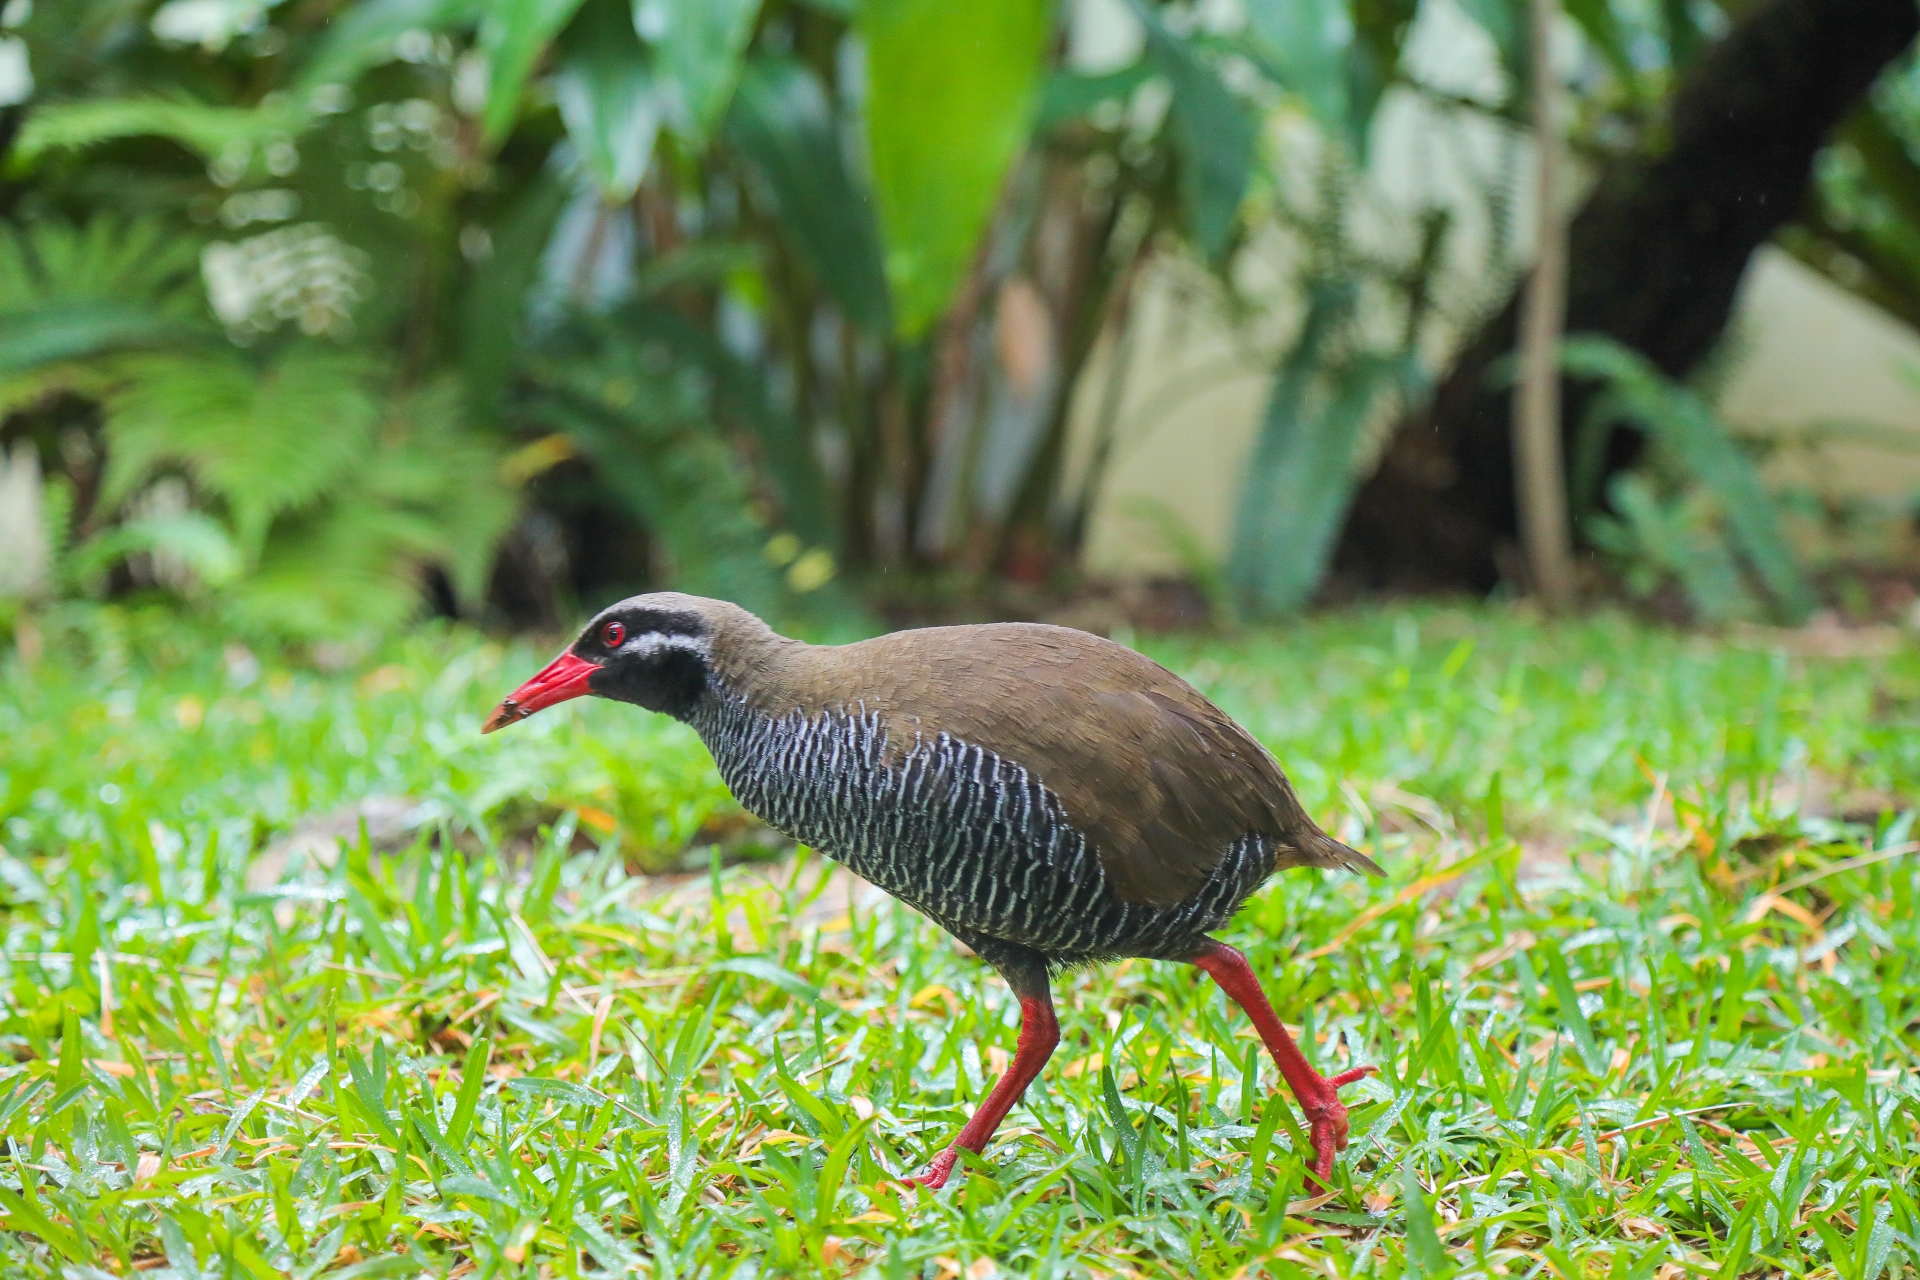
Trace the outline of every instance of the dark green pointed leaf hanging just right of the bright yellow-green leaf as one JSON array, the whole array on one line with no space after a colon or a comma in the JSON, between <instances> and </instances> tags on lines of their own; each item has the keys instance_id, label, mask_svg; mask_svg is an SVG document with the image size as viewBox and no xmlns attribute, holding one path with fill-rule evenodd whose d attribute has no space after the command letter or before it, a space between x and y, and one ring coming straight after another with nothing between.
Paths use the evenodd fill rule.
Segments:
<instances>
[{"instance_id":1,"label":"dark green pointed leaf hanging just right of the bright yellow-green leaf","mask_svg":"<svg viewBox=\"0 0 1920 1280\"><path fill-rule=\"evenodd\" d=\"M1215 259L1233 240L1240 200L1254 169L1254 117L1194 50L1140 0L1129 0L1146 25L1146 48L1173 84L1167 129L1179 154L1181 203L1200 253Z\"/></svg>"}]
</instances>

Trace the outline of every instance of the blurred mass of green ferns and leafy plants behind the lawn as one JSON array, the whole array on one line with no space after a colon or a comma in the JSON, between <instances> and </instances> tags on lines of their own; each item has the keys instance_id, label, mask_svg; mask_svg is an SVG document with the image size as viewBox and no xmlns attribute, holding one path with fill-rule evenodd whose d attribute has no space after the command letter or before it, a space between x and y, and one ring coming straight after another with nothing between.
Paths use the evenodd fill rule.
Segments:
<instances>
[{"instance_id":1,"label":"blurred mass of green ferns and leafy plants behind the lawn","mask_svg":"<svg viewBox=\"0 0 1920 1280\"><path fill-rule=\"evenodd\" d=\"M422 583L557 624L651 583L804 618L900 574L1064 572L1114 449L1096 420L1069 474L1069 407L1167 255L1248 334L1300 303L1223 572L1248 614L1298 608L1369 426L1517 269L1513 165L1478 192L1473 297L1434 294L1444 207L1365 234L1375 117L1398 90L1513 144L1524 6L1465 6L1500 63L1478 96L1404 58L1415 0L1094 10L8 6L0 457L36 499L0 522L25 549L4 612L159 591L317 639L415 614ZM1594 155L1657 148L1728 21L1569 19ZM1889 263L1903 84L1820 205ZM1248 267L1273 232L1300 248L1281 282Z\"/></svg>"}]
</instances>

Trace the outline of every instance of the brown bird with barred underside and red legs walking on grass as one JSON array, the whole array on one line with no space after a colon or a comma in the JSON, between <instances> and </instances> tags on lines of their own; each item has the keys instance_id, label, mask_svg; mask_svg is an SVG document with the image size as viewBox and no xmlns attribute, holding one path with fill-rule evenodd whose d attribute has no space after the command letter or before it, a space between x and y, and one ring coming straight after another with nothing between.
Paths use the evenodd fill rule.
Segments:
<instances>
[{"instance_id":1,"label":"brown bird with barred underside and red legs walking on grass","mask_svg":"<svg viewBox=\"0 0 1920 1280\"><path fill-rule=\"evenodd\" d=\"M1210 936L1283 867L1384 871L1306 814L1275 758L1192 685L1089 631L1000 622L808 645L676 591L603 608L486 720L578 697L695 729L751 814L906 902L1020 998L1020 1042L958 1136L906 1178L941 1188L1060 1044L1050 979L1146 958L1208 973L1252 1019L1309 1123L1346 1146L1319 1075L1246 956Z\"/></svg>"}]
</instances>

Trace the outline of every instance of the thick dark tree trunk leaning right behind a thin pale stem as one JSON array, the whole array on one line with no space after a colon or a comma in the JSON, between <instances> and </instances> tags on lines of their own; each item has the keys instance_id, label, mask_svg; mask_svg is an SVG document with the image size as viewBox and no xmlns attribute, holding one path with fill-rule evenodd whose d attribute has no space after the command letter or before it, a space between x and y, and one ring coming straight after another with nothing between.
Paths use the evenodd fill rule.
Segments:
<instances>
[{"instance_id":1,"label":"thick dark tree trunk leaning right behind a thin pale stem","mask_svg":"<svg viewBox=\"0 0 1920 1280\"><path fill-rule=\"evenodd\" d=\"M1726 328L1747 259L1801 205L1812 159L1920 33L1914 0L1761 0L1682 79L1670 144L1609 163L1572 221L1569 334L1605 334L1682 376ZM1363 587L1486 591L1513 555L1519 297L1455 357L1348 512L1334 572ZM1567 384L1563 436L1592 388ZM1607 470L1640 439L1619 432ZM1572 457L1571 447L1565 451Z\"/></svg>"}]
</instances>

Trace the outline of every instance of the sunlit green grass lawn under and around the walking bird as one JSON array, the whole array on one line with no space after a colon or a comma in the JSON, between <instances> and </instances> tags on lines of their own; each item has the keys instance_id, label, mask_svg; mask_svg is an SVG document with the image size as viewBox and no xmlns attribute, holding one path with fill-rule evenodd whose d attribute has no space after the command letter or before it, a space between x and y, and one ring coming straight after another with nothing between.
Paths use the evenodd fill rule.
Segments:
<instances>
[{"instance_id":1,"label":"sunlit green grass lawn under and around the walking bird","mask_svg":"<svg viewBox=\"0 0 1920 1280\"><path fill-rule=\"evenodd\" d=\"M1252 1027L1133 961L1060 981L985 1163L902 1197L1018 1007L818 858L722 869L772 842L689 731L482 739L547 654L465 631L321 674L83 622L0 666L0 1274L1920 1265L1916 649L1436 606L1148 643L1390 869L1225 935L1380 1067L1338 1186Z\"/></svg>"}]
</instances>

